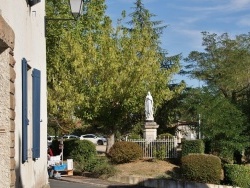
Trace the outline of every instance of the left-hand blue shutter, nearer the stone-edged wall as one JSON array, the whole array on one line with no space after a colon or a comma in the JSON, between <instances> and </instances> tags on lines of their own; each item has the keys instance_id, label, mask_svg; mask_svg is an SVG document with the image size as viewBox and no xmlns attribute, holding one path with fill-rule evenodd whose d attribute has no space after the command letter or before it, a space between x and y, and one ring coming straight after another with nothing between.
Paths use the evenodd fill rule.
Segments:
<instances>
[{"instance_id":1,"label":"left-hand blue shutter, nearer the stone-edged wall","mask_svg":"<svg viewBox=\"0 0 250 188\"><path fill-rule=\"evenodd\" d=\"M22 59L22 162L28 160L28 81L27 60Z\"/></svg>"}]
</instances>

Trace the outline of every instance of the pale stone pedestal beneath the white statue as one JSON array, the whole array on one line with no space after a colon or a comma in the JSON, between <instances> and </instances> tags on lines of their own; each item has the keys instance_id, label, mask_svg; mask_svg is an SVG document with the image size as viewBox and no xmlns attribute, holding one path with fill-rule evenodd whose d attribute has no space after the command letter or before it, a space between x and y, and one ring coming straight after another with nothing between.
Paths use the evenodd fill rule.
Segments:
<instances>
[{"instance_id":1,"label":"pale stone pedestal beneath the white statue","mask_svg":"<svg viewBox=\"0 0 250 188\"><path fill-rule=\"evenodd\" d=\"M158 127L159 125L157 125L156 122L146 121L144 131L143 131L143 138L146 140L156 140Z\"/></svg>"}]
</instances>

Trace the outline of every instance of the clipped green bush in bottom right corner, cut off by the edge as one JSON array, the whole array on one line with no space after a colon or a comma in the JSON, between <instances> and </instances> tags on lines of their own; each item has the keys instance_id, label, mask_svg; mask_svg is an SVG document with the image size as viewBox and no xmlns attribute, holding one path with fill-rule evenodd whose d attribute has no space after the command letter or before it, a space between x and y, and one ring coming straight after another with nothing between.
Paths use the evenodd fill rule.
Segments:
<instances>
[{"instance_id":1,"label":"clipped green bush in bottom right corner, cut off by the edge","mask_svg":"<svg viewBox=\"0 0 250 188\"><path fill-rule=\"evenodd\" d=\"M242 188L250 187L250 167L226 164L224 166L224 181L228 185L239 186Z\"/></svg>"}]
</instances>

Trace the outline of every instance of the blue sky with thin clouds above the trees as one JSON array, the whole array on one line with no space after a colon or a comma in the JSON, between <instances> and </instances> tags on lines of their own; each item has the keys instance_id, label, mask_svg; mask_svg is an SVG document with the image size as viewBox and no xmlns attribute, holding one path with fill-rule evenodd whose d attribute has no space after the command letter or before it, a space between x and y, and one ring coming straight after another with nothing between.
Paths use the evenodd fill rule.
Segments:
<instances>
[{"instance_id":1,"label":"blue sky with thin clouds above the trees","mask_svg":"<svg viewBox=\"0 0 250 188\"><path fill-rule=\"evenodd\" d=\"M136 0L106 0L107 15L114 22L133 12ZM227 32L231 38L250 32L250 0L142 0L145 8L156 16L157 21L168 25L161 37L162 47L169 55L202 51L202 31L218 35ZM189 86L197 87L197 80L185 79Z\"/></svg>"}]
</instances>

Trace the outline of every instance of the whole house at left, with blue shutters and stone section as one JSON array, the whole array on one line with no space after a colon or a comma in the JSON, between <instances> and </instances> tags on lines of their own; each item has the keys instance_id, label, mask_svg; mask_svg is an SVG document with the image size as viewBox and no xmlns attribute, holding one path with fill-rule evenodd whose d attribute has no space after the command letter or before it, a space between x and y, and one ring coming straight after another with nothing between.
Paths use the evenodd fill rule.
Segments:
<instances>
[{"instance_id":1,"label":"whole house at left, with blue shutters and stone section","mask_svg":"<svg viewBox=\"0 0 250 188\"><path fill-rule=\"evenodd\" d=\"M0 0L0 187L49 187L45 1Z\"/></svg>"}]
</instances>

